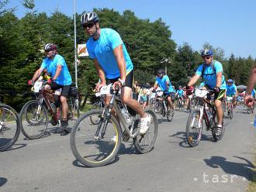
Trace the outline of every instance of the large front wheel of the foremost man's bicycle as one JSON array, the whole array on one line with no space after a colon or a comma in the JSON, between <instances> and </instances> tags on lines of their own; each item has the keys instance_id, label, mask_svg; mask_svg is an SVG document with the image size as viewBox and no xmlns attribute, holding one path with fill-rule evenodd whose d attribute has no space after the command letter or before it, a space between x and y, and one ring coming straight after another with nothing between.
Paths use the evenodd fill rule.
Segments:
<instances>
[{"instance_id":1,"label":"large front wheel of the foremost man's bicycle","mask_svg":"<svg viewBox=\"0 0 256 192\"><path fill-rule=\"evenodd\" d=\"M99 118L97 125L92 124L92 116ZM109 119L102 117L100 110L88 111L81 115L71 131L72 153L85 166L104 166L110 163L118 153L120 145L119 123L112 116Z\"/></svg>"}]
</instances>

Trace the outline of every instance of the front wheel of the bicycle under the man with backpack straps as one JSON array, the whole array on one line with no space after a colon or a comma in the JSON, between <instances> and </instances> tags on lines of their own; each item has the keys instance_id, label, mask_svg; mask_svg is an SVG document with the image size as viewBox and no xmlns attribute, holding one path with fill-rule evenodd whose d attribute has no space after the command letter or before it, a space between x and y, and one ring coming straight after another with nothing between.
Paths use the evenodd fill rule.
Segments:
<instances>
[{"instance_id":1,"label":"front wheel of the bicycle under the man with backpack straps","mask_svg":"<svg viewBox=\"0 0 256 192\"><path fill-rule=\"evenodd\" d=\"M201 122L199 122L200 113L201 111L199 108L192 109L187 121L185 135L186 135L187 142L191 147L198 146L202 137L203 123L202 123L202 119L201 119ZM194 118L198 119L197 125L195 123ZM199 127L199 125L201 125L201 127ZM192 130L197 130L198 132L195 134L192 134Z\"/></svg>"}]
</instances>

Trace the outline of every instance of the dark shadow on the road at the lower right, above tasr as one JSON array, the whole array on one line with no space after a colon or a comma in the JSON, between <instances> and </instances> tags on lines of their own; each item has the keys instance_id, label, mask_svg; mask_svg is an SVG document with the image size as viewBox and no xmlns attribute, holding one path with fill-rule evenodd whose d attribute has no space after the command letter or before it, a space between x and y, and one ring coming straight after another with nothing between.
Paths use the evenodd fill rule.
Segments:
<instances>
[{"instance_id":1,"label":"dark shadow on the road at the lower right, above tasr","mask_svg":"<svg viewBox=\"0 0 256 192\"><path fill-rule=\"evenodd\" d=\"M245 163L227 161L227 159L222 156L212 156L211 159L204 159L204 161L207 166L221 168L225 173L244 177L247 180L253 180L254 174L256 174L255 170L253 170L255 169L254 164L243 157L234 157L243 160Z\"/></svg>"}]
</instances>

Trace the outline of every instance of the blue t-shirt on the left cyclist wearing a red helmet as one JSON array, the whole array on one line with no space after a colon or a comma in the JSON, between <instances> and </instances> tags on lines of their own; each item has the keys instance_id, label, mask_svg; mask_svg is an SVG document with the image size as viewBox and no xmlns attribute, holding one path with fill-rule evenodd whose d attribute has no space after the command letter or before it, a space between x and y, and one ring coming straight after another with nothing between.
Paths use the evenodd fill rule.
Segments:
<instances>
[{"instance_id":1,"label":"blue t-shirt on the left cyclist wearing a red helmet","mask_svg":"<svg viewBox=\"0 0 256 192\"><path fill-rule=\"evenodd\" d=\"M46 69L48 73L51 73L51 77L54 77L57 70L57 65L61 65L62 69L61 74L57 77L55 82L60 85L71 85L71 74L69 73L64 57L61 55L56 54L53 60L50 60L48 57L45 58L41 64L41 68Z\"/></svg>"}]
</instances>

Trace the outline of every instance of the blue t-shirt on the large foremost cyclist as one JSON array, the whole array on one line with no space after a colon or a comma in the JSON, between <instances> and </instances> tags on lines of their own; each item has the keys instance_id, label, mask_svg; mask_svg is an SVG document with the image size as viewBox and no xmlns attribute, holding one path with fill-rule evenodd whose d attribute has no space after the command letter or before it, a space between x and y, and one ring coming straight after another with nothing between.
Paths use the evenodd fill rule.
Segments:
<instances>
[{"instance_id":1,"label":"blue t-shirt on the large foremost cyclist","mask_svg":"<svg viewBox=\"0 0 256 192\"><path fill-rule=\"evenodd\" d=\"M120 77L119 67L113 53L113 50L119 45L123 46L123 57L126 62L126 74L128 74L133 70L133 63L130 60L126 46L123 44L123 40L115 30L101 29L99 39L95 40L90 37L86 43L89 57L99 61L99 64L108 79Z\"/></svg>"}]
</instances>

